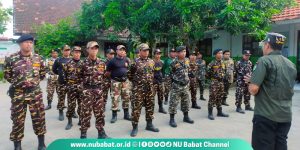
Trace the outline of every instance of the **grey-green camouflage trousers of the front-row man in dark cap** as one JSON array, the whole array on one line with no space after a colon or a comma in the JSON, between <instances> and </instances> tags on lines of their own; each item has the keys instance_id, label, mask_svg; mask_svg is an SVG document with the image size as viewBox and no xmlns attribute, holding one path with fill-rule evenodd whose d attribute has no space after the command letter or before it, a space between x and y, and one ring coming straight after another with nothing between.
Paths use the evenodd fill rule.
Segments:
<instances>
[{"instance_id":1,"label":"grey-green camouflage trousers of the front-row man in dark cap","mask_svg":"<svg viewBox=\"0 0 300 150\"><path fill-rule=\"evenodd\" d=\"M181 102L181 111L189 111L189 84L186 86L181 86L176 83L172 84L170 102L169 102L169 113L176 114L177 106Z\"/></svg>"}]
</instances>

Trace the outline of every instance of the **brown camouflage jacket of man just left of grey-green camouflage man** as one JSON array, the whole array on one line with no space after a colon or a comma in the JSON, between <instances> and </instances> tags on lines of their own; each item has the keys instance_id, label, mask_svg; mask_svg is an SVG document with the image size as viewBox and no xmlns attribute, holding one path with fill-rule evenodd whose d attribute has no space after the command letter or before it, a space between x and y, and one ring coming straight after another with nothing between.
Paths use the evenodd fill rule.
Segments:
<instances>
[{"instance_id":1,"label":"brown camouflage jacket of man just left of grey-green camouflage man","mask_svg":"<svg viewBox=\"0 0 300 150\"><path fill-rule=\"evenodd\" d=\"M154 65L150 58L137 58L130 66L128 78L134 85L151 86L154 80Z\"/></svg>"}]
</instances>

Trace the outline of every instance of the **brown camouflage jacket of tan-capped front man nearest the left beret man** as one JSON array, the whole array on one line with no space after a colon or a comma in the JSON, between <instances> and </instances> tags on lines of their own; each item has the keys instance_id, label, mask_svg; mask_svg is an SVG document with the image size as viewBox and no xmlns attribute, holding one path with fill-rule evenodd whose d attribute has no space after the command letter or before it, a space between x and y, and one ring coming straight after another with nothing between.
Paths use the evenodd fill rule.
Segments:
<instances>
[{"instance_id":1,"label":"brown camouflage jacket of tan-capped front man nearest the left beret man","mask_svg":"<svg viewBox=\"0 0 300 150\"><path fill-rule=\"evenodd\" d=\"M87 57L82 62L81 72L84 86L102 88L105 73L105 63L102 60L91 60Z\"/></svg>"}]
</instances>

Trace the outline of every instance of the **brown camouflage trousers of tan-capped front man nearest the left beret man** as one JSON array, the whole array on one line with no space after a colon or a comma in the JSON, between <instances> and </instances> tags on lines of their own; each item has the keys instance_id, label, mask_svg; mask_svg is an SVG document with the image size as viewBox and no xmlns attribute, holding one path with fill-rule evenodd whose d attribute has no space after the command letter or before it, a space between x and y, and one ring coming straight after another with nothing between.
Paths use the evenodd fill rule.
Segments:
<instances>
[{"instance_id":1,"label":"brown camouflage trousers of tan-capped front man nearest the left beret man","mask_svg":"<svg viewBox=\"0 0 300 150\"><path fill-rule=\"evenodd\" d=\"M83 91L81 102L81 127L80 130L86 132L91 126L92 112L96 118L96 129L102 131L105 125L104 121L104 100L103 91L100 89L86 89Z\"/></svg>"}]
</instances>

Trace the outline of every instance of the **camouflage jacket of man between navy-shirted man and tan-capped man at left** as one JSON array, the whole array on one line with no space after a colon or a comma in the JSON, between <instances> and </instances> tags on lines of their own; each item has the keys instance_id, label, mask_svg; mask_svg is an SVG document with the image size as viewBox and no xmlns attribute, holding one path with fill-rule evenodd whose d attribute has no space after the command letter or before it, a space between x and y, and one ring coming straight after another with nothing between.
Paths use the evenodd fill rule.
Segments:
<instances>
[{"instance_id":1,"label":"camouflage jacket of man between navy-shirted man and tan-capped man at left","mask_svg":"<svg viewBox=\"0 0 300 150\"><path fill-rule=\"evenodd\" d=\"M66 63L64 67L65 81L67 84L81 84L82 83L82 61L71 59Z\"/></svg>"}]
</instances>

